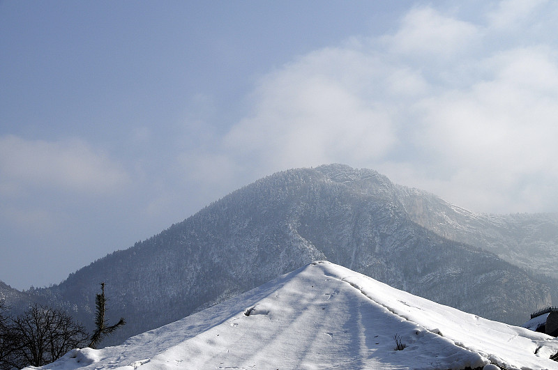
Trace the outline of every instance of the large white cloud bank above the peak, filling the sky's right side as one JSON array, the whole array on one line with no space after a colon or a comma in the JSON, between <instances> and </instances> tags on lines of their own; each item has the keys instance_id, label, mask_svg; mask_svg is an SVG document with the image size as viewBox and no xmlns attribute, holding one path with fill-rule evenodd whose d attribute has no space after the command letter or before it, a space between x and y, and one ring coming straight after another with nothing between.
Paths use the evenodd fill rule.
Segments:
<instances>
[{"instance_id":1,"label":"large white cloud bank above the peak, filling the sky's right side","mask_svg":"<svg viewBox=\"0 0 558 370\"><path fill-rule=\"evenodd\" d=\"M412 8L392 33L299 56L259 80L223 153L259 175L343 162L472 210L555 211L557 45L523 22L548 6ZM509 38L520 23L537 37Z\"/></svg>"}]
</instances>

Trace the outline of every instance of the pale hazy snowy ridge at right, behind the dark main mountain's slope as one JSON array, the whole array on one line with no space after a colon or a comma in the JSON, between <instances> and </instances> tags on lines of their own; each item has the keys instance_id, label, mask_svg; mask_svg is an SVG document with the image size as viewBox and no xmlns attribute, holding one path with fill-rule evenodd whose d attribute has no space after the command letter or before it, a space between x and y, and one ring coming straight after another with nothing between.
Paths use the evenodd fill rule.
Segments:
<instances>
[{"instance_id":1,"label":"pale hazy snowy ridge at right, behind the dark main mountain's slope","mask_svg":"<svg viewBox=\"0 0 558 370\"><path fill-rule=\"evenodd\" d=\"M494 252L500 258L558 278L558 214L472 213L422 190L399 187L414 222L444 238Z\"/></svg>"}]
</instances>

